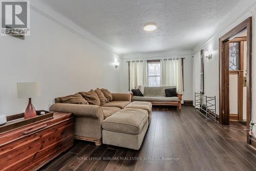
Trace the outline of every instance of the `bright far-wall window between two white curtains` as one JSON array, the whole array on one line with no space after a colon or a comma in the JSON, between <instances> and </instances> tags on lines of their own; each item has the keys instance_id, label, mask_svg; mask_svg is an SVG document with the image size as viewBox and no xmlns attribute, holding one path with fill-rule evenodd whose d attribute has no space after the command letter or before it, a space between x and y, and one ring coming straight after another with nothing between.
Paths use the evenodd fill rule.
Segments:
<instances>
[{"instance_id":1,"label":"bright far-wall window between two white curtains","mask_svg":"<svg viewBox=\"0 0 256 171\"><path fill-rule=\"evenodd\" d=\"M160 60L147 62L147 83L150 87L160 86Z\"/></svg>"}]
</instances>

